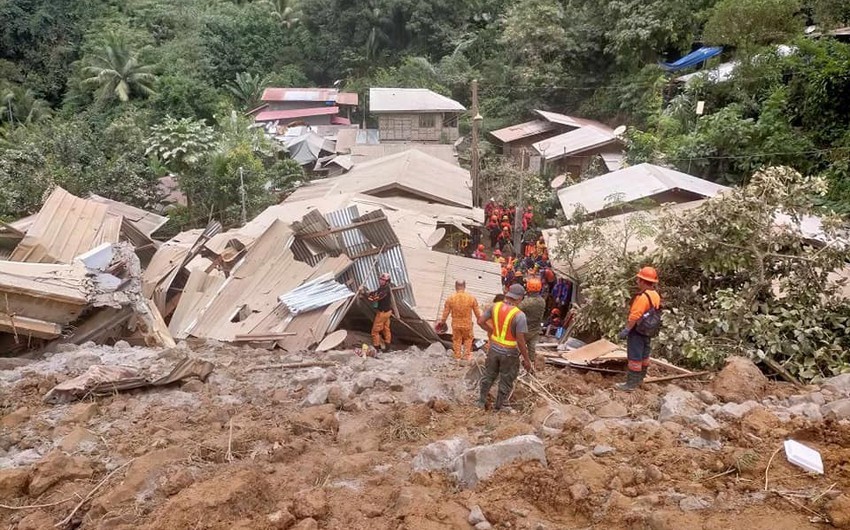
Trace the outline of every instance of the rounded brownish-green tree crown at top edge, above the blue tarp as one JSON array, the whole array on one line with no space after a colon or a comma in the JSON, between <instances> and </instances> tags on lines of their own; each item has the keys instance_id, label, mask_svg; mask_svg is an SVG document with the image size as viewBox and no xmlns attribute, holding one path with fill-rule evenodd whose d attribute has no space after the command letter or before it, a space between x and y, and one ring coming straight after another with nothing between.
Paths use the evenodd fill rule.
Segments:
<instances>
[{"instance_id":1,"label":"rounded brownish-green tree crown at top edge, above the blue tarp","mask_svg":"<svg viewBox=\"0 0 850 530\"><path fill-rule=\"evenodd\" d=\"M705 24L705 41L739 48L787 42L803 29L800 0L721 0Z\"/></svg>"}]
</instances>

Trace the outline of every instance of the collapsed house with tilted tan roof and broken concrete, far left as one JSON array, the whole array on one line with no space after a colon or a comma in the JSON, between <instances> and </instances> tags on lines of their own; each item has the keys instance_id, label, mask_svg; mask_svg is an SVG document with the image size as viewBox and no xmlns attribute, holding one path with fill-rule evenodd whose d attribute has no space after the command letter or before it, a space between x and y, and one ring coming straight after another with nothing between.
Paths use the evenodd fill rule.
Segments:
<instances>
[{"instance_id":1,"label":"collapsed house with tilted tan roof and broken concrete, far left","mask_svg":"<svg viewBox=\"0 0 850 530\"><path fill-rule=\"evenodd\" d=\"M56 188L41 210L3 225L0 351L127 337L173 344L141 295L151 235L167 219L133 206Z\"/></svg>"}]
</instances>

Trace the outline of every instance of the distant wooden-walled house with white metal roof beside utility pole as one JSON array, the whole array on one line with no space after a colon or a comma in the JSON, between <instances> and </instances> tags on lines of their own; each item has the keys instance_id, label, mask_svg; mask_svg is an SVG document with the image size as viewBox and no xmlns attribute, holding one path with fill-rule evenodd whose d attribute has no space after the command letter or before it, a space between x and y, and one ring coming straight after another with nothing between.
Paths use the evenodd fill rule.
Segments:
<instances>
[{"instance_id":1,"label":"distant wooden-walled house with white metal roof beside utility pole","mask_svg":"<svg viewBox=\"0 0 850 530\"><path fill-rule=\"evenodd\" d=\"M381 142L440 142L458 139L466 108L424 88L369 89L369 112L378 118Z\"/></svg>"}]
</instances>

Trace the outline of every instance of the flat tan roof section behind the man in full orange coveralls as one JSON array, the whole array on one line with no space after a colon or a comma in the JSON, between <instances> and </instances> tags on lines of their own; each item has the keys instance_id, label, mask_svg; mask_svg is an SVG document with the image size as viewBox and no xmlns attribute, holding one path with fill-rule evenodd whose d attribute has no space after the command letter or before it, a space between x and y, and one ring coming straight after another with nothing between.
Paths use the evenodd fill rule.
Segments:
<instances>
[{"instance_id":1,"label":"flat tan roof section behind the man in full orange coveralls","mask_svg":"<svg viewBox=\"0 0 850 530\"><path fill-rule=\"evenodd\" d=\"M442 316L446 299L455 292L455 281L466 281L466 291L478 300L481 311L502 293L501 268L492 261L454 256L421 249L404 249L408 274L416 298L414 309L429 324ZM486 332L475 327L476 338Z\"/></svg>"}]
</instances>

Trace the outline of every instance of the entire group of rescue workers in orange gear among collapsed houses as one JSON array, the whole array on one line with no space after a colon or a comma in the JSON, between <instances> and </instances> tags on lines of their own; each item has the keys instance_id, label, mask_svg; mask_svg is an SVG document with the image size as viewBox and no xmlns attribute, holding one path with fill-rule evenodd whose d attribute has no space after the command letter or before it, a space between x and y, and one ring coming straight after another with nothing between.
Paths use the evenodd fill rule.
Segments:
<instances>
[{"instance_id":1,"label":"entire group of rescue workers in orange gear among collapsed houses","mask_svg":"<svg viewBox=\"0 0 850 530\"><path fill-rule=\"evenodd\" d=\"M488 206L492 208L493 204ZM500 217L500 213L493 210L488 212L491 224L503 217L505 227L509 228L510 216L506 214ZM523 214L524 232L529 232L532 219L529 209ZM504 293L497 295L482 310L478 300L466 291L466 282L457 279L455 292L446 300L435 329L438 333L447 333L451 317L452 349L454 358L459 362L471 361L473 358L474 324L487 332L489 340L482 346L487 357L477 405L482 409L487 407L490 390L498 382L492 409L510 411L509 397L520 374L520 366L533 373L543 365L542 356L538 358L536 355L540 337L554 334L558 338L565 338L562 335L575 315L570 307L573 285L569 280L558 279L554 274L542 236L534 243L526 243L520 258L503 256L503 251L509 250L507 247L503 250L499 245L498 235L504 232L505 227L496 226L490 234L494 261L502 266ZM494 231L499 233L494 235ZM484 250L484 245L478 245L471 257L486 260ZM625 392L640 386L646 377L651 340L661 326L661 296L657 291L656 270L649 266L643 267L635 279L637 294L631 301L626 324L618 334L618 338L627 344L628 371L626 381L615 388ZM383 273L378 279L378 289L364 293L376 311L372 325L372 344L381 351L387 351L392 342L391 283L390 275ZM565 315L563 319L562 314Z\"/></svg>"}]
</instances>

